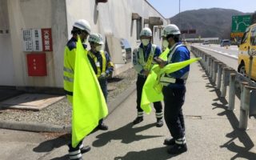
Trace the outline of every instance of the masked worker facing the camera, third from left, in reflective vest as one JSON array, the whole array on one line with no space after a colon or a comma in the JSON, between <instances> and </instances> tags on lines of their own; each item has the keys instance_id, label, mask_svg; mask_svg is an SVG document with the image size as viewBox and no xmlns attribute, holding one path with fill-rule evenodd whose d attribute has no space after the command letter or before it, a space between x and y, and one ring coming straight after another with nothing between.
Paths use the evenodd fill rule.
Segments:
<instances>
[{"instance_id":1,"label":"masked worker facing the camera, third from left, in reflective vest","mask_svg":"<svg viewBox=\"0 0 256 160\"><path fill-rule=\"evenodd\" d=\"M162 54L162 50L158 46L151 43L152 31L150 28L143 28L140 33L140 38L142 43L133 51L134 69L138 72L138 78L136 82L138 115L133 122L134 125L143 121L143 110L141 108L142 88L146 82L148 74L150 74L150 69L154 65L153 58ZM155 115L157 118L156 126L161 127L163 126L162 103L154 102L154 109L156 110Z\"/></svg>"}]
</instances>

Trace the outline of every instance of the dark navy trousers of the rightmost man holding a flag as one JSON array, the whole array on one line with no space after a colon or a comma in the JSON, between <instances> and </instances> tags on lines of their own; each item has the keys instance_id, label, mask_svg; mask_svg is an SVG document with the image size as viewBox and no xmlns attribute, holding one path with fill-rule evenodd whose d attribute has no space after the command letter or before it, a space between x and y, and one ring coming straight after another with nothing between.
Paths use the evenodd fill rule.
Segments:
<instances>
[{"instance_id":1,"label":"dark navy trousers of the rightmost man holding a flag","mask_svg":"<svg viewBox=\"0 0 256 160\"><path fill-rule=\"evenodd\" d=\"M186 87L174 89L164 86L162 89L165 102L164 117L166 126L174 139L183 138L185 136L185 124L182 113L185 93Z\"/></svg>"}]
</instances>

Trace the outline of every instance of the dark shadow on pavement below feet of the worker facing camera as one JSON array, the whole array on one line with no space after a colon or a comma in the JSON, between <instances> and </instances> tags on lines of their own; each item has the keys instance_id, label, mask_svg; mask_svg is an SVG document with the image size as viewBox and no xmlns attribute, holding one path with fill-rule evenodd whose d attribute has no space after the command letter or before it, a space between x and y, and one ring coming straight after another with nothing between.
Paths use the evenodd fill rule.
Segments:
<instances>
[{"instance_id":1,"label":"dark shadow on pavement below feet of the worker facing camera","mask_svg":"<svg viewBox=\"0 0 256 160\"><path fill-rule=\"evenodd\" d=\"M117 130L110 130L106 133L99 134L96 136L98 138L93 142L93 146L99 147L99 146L105 146L108 142L111 140L122 140L122 143L130 143L134 141L139 141L146 138L156 138L156 137L162 137L161 135L142 135L137 134L138 132L141 132L143 130L147 130L150 127L155 126L155 123L148 124L146 126L138 126L133 128L133 123L128 123L126 126L122 126L118 128Z\"/></svg>"}]
</instances>

